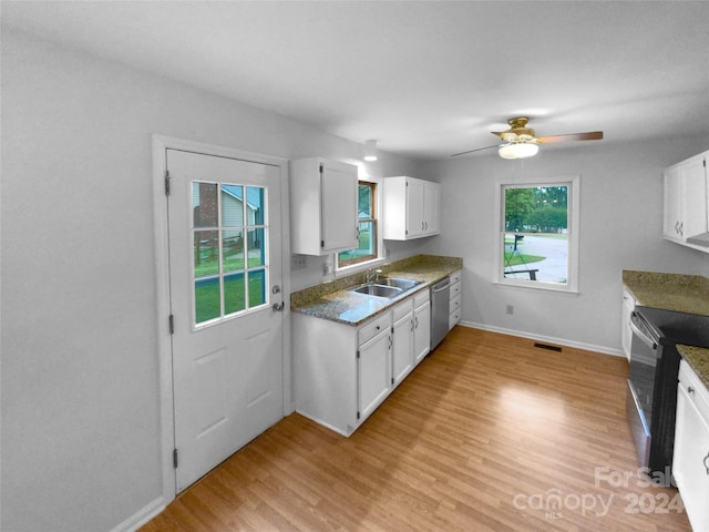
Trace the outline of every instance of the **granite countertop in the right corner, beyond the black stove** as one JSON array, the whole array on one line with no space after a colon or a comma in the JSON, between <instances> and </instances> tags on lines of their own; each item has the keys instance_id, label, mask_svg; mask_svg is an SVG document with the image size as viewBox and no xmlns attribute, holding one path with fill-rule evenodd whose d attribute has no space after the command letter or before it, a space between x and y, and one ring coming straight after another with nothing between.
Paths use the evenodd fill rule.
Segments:
<instances>
[{"instance_id":1,"label":"granite countertop in the right corner, beyond the black stove","mask_svg":"<svg viewBox=\"0 0 709 532\"><path fill-rule=\"evenodd\" d=\"M623 284L643 307L709 316L709 279L706 277L623 270Z\"/></svg>"}]
</instances>

